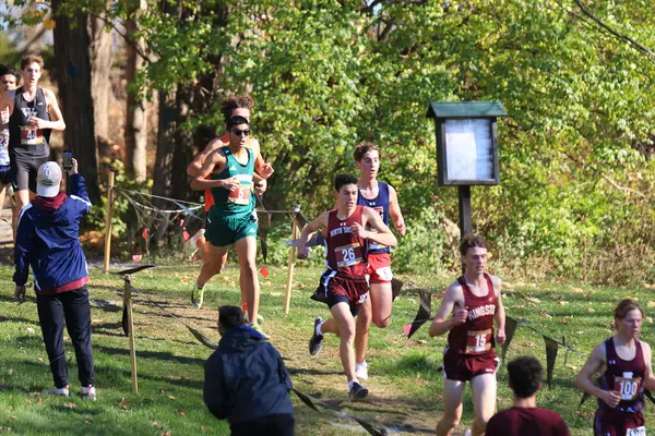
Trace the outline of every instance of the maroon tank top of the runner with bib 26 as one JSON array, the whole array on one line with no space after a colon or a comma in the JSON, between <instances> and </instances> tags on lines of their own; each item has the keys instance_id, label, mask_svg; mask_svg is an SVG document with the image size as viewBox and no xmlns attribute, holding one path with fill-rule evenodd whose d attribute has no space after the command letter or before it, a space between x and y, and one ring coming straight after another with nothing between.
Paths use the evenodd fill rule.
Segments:
<instances>
[{"instance_id":1,"label":"maroon tank top of the runner with bib 26","mask_svg":"<svg viewBox=\"0 0 655 436\"><path fill-rule=\"evenodd\" d=\"M327 267L343 276L361 279L367 274L367 241L355 238L352 227L355 222L362 225L362 206L356 206L355 211L346 219L338 219L336 209L330 210L327 218L327 235L325 244Z\"/></svg>"}]
</instances>

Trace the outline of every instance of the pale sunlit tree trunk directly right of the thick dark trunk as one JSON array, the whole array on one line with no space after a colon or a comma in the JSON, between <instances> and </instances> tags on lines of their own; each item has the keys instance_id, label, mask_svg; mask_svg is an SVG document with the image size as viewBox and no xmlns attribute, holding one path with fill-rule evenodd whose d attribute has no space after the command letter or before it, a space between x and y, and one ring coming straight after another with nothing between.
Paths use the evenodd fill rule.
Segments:
<instances>
[{"instance_id":1,"label":"pale sunlit tree trunk directly right of the thick dark trunk","mask_svg":"<svg viewBox=\"0 0 655 436\"><path fill-rule=\"evenodd\" d=\"M107 14L103 13L103 17ZM98 142L109 140L109 96L111 93L111 34L107 23L99 17L88 19L91 36L91 92L93 96L93 118Z\"/></svg>"}]
</instances>

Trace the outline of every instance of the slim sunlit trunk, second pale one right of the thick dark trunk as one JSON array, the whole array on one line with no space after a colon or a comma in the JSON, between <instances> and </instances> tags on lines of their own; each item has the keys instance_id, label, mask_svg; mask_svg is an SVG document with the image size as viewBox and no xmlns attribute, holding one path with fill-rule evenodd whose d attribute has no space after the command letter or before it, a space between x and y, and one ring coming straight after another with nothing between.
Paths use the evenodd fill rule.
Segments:
<instances>
[{"instance_id":1,"label":"slim sunlit trunk, second pale one right of the thick dark trunk","mask_svg":"<svg viewBox=\"0 0 655 436\"><path fill-rule=\"evenodd\" d=\"M138 4L139 9L145 10L147 4L144 0L140 0ZM138 32L136 22L134 15L139 13L139 9L132 10L129 13L130 20L126 21L126 32L128 35L134 35ZM133 83L139 70L141 70L145 63L144 59L139 56L138 47L143 52L144 43L142 39L134 41L133 44L128 41L127 44L127 66L126 66L126 80L128 83ZM145 181L146 178L146 146L147 146L147 116L146 116L146 100L145 90L140 94L132 92L128 93L127 110L126 110L126 171L129 177L133 178L138 182Z\"/></svg>"}]
</instances>

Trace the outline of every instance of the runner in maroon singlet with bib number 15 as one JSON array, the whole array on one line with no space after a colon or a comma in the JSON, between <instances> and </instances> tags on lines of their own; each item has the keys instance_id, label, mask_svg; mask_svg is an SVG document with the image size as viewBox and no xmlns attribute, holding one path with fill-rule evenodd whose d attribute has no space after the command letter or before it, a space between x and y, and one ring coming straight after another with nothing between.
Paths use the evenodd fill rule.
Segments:
<instances>
[{"instance_id":1,"label":"runner in maroon singlet with bib number 15","mask_svg":"<svg viewBox=\"0 0 655 436\"><path fill-rule=\"evenodd\" d=\"M484 435L496 411L496 343L505 341L501 281L485 272L487 241L468 235L460 247L466 272L445 290L430 336L449 332L443 353L443 416L437 435L451 435L462 419L462 396L471 382L475 419L472 433ZM449 318L450 314L453 314ZM493 322L498 327L493 338Z\"/></svg>"}]
</instances>

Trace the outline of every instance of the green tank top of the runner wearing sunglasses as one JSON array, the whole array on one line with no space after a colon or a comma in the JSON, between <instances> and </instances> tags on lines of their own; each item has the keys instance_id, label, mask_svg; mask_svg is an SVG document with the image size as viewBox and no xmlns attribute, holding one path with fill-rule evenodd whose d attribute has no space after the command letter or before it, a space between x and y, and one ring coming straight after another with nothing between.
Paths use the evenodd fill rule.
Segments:
<instances>
[{"instance_id":1,"label":"green tank top of the runner wearing sunglasses","mask_svg":"<svg viewBox=\"0 0 655 436\"><path fill-rule=\"evenodd\" d=\"M235 191L227 191L223 187L212 187L214 196L214 206L221 217L242 217L252 214L254 210L254 196L252 195L252 174L254 172L254 154L250 148L248 150L248 164L241 165L231 154L228 147L221 147L227 165L218 173L212 173L212 180L225 180L233 177L239 179L240 186Z\"/></svg>"}]
</instances>

